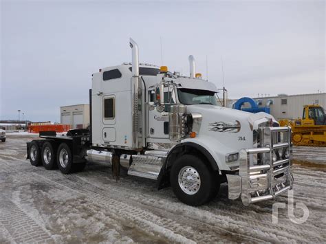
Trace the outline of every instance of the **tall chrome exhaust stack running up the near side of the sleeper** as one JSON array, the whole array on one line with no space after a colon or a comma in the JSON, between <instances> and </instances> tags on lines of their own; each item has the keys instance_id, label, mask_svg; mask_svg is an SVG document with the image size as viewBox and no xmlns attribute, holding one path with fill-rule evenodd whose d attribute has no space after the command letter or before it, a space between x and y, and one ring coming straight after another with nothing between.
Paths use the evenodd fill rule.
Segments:
<instances>
[{"instance_id":1,"label":"tall chrome exhaust stack running up the near side of the sleeper","mask_svg":"<svg viewBox=\"0 0 326 244\"><path fill-rule=\"evenodd\" d=\"M133 129L132 129L132 135L133 135L133 148L141 148L139 146L139 140L138 140L138 131L139 131L139 124L138 124L138 106L141 100L139 99L139 56L138 56L138 45L133 41L132 38L130 38L129 41L130 47L132 49L132 71L133 71L133 77L131 78L132 82L132 90L131 90L131 100L132 100L132 122L133 122ZM140 111L141 112L141 111Z\"/></svg>"}]
</instances>

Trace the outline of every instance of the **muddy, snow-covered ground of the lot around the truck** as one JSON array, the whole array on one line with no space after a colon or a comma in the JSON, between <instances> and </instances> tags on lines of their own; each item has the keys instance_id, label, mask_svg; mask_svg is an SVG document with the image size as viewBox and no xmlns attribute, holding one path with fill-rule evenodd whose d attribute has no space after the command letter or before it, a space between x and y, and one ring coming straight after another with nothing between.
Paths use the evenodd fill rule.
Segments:
<instances>
[{"instance_id":1,"label":"muddy, snow-covered ground of the lot around the truck","mask_svg":"<svg viewBox=\"0 0 326 244\"><path fill-rule=\"evenodd\" d=\"M292 223L287 208L279 209L275 225L276 201L245 207L227 199L226 186L214 201L193 208L171 188L157 191L155 181L126 175L113 180L105 164L88 164L72 175L33 167L25 159L30 140L8 135L0 143L0 243L326 242L325 164L294 165L294 205L304 203L309 218ZM287 203L287 194L276 200ZM303 211L295 208L294 214Z\"/></svg>"}]
</instances>

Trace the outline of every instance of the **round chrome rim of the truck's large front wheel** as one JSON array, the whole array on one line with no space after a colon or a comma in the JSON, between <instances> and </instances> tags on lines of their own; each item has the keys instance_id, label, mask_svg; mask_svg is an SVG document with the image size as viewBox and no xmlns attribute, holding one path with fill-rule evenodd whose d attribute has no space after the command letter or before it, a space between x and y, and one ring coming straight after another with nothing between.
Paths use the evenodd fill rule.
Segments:
<instances>
[{"instance_id":1,"label":"round chrome rim of the truck's large front wheel","mask_svg":"<svg viewBox=\"0 0 326 244\"><path fill-rule=\"evenodd\" d=\"M199 191L200 176L197 170L191 166L185 166L180 170L178 181L181 190L188 195L194 195Z\"/></svg>"}]
</instances>

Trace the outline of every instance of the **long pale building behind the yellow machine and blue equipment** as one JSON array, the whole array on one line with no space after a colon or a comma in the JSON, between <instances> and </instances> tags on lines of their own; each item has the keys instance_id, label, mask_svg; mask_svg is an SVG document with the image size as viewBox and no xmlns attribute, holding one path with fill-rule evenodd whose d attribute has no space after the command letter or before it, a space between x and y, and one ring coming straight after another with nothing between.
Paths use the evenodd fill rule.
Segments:
<instances>
[{"instance_id":1,"label":"long pale building behind the yellow machine and blue equipment","mask_svg":"<svg viewBox=\"0 0 326 244\"><path fill-rule=\"evenodd\" d=\"M270 107L270 114L276 120L301 118L303 115L303 106L307 104L319 104L326 109L326 93L311 93L286 95L279 94L278 96L268 96L252 98L257 102L259 107ZM232 108L236 100L228 100L228 107ZM268 105L269 104L269 105ZM244 104L243 107L247 107Z\"/></svg>"}]
</instances>

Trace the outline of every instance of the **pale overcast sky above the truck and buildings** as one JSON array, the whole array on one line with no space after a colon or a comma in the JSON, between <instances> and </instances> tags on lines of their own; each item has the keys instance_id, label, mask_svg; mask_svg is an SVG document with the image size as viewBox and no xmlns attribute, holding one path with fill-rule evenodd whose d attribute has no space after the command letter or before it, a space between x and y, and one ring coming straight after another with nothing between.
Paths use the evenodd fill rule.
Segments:
<instances>
[{"instance_id":1,"label":"pale overcast sky above the truck and buildings","mask_svg":"<svg viewBox=\"0 0 326 244\"><path fill-rule=\"evenodd\" d=\"M1 1L1 0L0 0ZM60 121L91 74L140 62L197 72L229 98L325 92L325 1L1 1L0 120Z\"/></svg>"}]
</instances>

